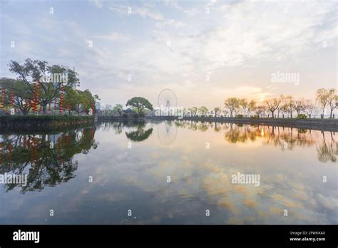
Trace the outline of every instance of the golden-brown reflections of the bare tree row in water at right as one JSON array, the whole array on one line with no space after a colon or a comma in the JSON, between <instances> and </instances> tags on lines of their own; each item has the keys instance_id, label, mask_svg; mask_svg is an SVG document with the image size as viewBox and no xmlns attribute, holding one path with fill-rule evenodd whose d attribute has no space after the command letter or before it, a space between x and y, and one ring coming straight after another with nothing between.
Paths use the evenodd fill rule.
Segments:
<instances>
[{"instance_id":1,"label":"golden-brown reflections of the bare tree row in water at right","mask_svg":"<svg viewBox=\"0 0 338 248\"><path fill-rule=\"evenodd\" d=\"M179 120L175 123L178 127L190 130L205 131L206 123ZM296 147L309 147L316 145L318 160L321 162L336 162L338 143L334 132L321 132L299 128L278 126L249 125L234 123L209 123L216 132L225 131L224 138L229 143L245 143L261 139L264 145L273 145L282 150L292 150ZM214 128L215 126L215 128Z\"/></svg>"}]
</instances>

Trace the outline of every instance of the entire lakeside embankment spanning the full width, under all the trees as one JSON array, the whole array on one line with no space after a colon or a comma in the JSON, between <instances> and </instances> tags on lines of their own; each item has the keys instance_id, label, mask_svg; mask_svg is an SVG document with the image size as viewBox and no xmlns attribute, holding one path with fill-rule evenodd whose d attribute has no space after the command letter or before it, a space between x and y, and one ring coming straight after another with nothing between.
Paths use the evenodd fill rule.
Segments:
<instances>
[{"instance_id":1,"label":"entire lakeside embankment spanning the full width, under all the trees","mask_svg":"<svg viewBox=\"0 0 338 248\"><path fill-rule=\"evenodd\" d=\"M76 115L1 115L1 130L54 130L63 127L77 127L93 124L95 121L139 122L145 120L188 120L216 123L250 125L273 125L309 130L338 132L338 119L297 119L297 118L230 118L230 117L184 117L146 116L143 118L94 117Z\"/></svg>"}]
</instances>

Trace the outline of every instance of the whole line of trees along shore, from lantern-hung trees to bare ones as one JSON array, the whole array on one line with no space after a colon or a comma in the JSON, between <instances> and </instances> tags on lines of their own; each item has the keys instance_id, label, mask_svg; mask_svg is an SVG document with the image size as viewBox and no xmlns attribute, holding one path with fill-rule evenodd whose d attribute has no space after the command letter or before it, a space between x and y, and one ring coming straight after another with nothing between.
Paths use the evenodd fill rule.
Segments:
<instances>
[{"instance_id":1,"label":"whole line of trees along shore, from lantern-hung trees to bare ones","mask_svg":"<svg viewBox=\"0 0 338 248\"><path fill-rule=\"evenodd\" d=\"M14 120L17 123L30 121L56 125L80 123L92 120L93 118L90 118L92 115L100 118L103 116L155 118L157 116L158 108L154 108L150 101L143 97L130 98L125 104L127 109L123 108L122 104L116 104L112 109L96 109L96 101L100 98L88 89L78 90L80 80L75 68L61 65L49 66L47 61L33 61L27 58L24 63L10 61L9 71L18 77L0 78L1 125ZM338 96L334 88L319 88L314 100L280 95L258 103L256 100L247 100L247 98L230 97L224 100L222 108L219 106L212 109L205 106L180 108L180 117L235 118L243 119L242 121L247 121L247 118L276 118L278 122L290 123L288 119L311 119L319 113L322 119L324 115L334 119L337 105ZM166 107L171 108L170 105ZM167 115L166 118L169 117ZM286 120L280 120L281 118Z\"/></svg>"}]
</instances>

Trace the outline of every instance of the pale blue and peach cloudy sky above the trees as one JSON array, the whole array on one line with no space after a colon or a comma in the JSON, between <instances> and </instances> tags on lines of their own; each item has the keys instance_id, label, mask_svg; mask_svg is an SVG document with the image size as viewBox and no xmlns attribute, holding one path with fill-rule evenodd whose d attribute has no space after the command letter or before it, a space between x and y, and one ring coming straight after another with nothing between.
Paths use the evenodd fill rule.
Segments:
<instances>
[{"instance_id":1,"label":"pale blue and peach cloudy sky above the trees","mask_svg":"<svg viewBox=\"0 0 338 248\"><path fill-rule=\"evenodd\" d=\"M10 60L75 66L81 89L97 93L103 105L133 96L157 105L164 88L183 107L222 107L230 96L314 99L317 88L337 88L337 6L1 0L0 76L15 77ZM299 81L272 81L277 73Z\"/></svg>"}]
</instances>

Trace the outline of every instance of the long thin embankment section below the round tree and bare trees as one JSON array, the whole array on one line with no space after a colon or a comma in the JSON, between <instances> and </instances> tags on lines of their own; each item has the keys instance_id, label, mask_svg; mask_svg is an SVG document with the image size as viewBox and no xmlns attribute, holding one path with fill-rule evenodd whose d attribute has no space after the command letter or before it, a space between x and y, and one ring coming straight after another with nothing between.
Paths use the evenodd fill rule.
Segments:
<instances>
[{"instance_id":1,"label":"long thin embankment section below the round tree and bare trees","mask_svg":"<svg viewBox=\"0 0 338 248\"><path fill-rule=\"evenodd\" d=\"M230 118L230 117L184 117L146 116L145 118L102 117L101 121L137 121L137 120L190 120L216 123L236 123L250 125L274 125L290 128L338 132L338 119L297 119L297 118Z\"/></svg>"}]
</instances>

